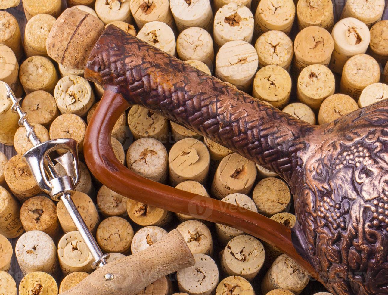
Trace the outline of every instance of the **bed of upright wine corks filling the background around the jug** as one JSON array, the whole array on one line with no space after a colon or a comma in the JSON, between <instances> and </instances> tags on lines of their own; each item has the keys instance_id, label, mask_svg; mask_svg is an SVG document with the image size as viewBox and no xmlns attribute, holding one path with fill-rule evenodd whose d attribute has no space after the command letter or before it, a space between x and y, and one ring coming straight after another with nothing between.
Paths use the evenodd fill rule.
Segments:
<instances>
[{"instance_id":1,"label":"bed of upright wine corks filling the background around the jug","mask_svg":"<svg viewBox=\"0 0 388 295\"><path fill-rule=\"evenodd\" d=\"M265 104L323 125L388 98L384 1L362 3L348 0L343 11L334 3L333 13L331 0L276 5L270 0L67 0L80 10L66 20L84 21L92 28L90 35L117 26ZM6 282L0 293L16 294L19 281L5 272L12 255L26 275L21 294L36 284L62 293L93 271L93 259L63 203L43 195L22 161L32 145L5 99L3 82L23 98L26 117L42 141L65 137L78 142L81 180L74 202L103 252L111 253L109 261L146 249L172 228L184 236L196 266L177 272L175 283L164 277L142 293L300 293L308 275L277 245L133 201L90 174L83 163L83 141L104 88L83 78L82 66L72 65L71 46L61 64L48 57L48 52L61 54L45 46L62 12L61 1L23 0L23 7L25 28L0 11L0 143L16 151L8 158L0 153L0 279ZM88 55L90 40L74 38ZM142 177L294 226L293 195L278 175L178 122L132 106L114 125L111 143L118 160ZM60 164L56 169L64 174ZM12 248L9 239L19 236Z\"/></svg>"}]
</instances>

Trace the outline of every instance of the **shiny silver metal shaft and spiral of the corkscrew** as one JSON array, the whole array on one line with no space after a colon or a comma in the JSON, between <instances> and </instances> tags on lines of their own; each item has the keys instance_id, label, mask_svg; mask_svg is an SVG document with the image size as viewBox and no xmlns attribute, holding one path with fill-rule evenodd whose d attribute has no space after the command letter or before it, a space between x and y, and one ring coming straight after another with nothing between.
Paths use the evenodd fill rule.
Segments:
<instances>
[{"instance_id":1,"label":"shiny silver metal shaft and spiral of the corkscrew","mask_svg":"<svg viewBox=\"0 0 388 295\"><path fill-rule=\"evenodd\" d=\"M109 258L109 253L102 253L71 199L71 196L75 193L75 187L80 181L77 141L61 138L40 142L34 131L34 127L26 119L26 113L24 113L19 104L21 98L16 98L8 84L5 84L5 88L7 89L7 99L12 102L12 111L20 117L19 126L26 128L27 137L33 144L33 147L23 155L23 160L27 163L40 189L49 194L54 201L61 200L63 202L71 220L73 220L83 241L95 259L92 268L106 265L106 259ZM49 155L59 149L67 151L55 159L66 171L66 175L64 176L59 176Z\"/></svg>"}]
</instances>

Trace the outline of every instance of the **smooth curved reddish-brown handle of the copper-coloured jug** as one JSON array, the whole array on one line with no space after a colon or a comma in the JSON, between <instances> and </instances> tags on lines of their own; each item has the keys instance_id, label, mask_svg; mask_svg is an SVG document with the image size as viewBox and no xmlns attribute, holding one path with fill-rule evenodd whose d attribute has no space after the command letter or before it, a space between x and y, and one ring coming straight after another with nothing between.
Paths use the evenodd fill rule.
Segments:
<instances>
[{"instance_id":1,"label":"smooth curved reddish-brown handle of the copper-coloured jug","mask_svg":"<svg viewBox=\"0 0 388 295\"><path fill-rule=\"evenodd\" d=\"M314 272L296 251L288 227L236 205L145 179L123 166L113 153L110 138L114 124L129 106L122 95L105 90L87 127L85 160L100 182L123 196L147 205L240 229L279 248L311 274Z\"/></svg>"}]
</instances>

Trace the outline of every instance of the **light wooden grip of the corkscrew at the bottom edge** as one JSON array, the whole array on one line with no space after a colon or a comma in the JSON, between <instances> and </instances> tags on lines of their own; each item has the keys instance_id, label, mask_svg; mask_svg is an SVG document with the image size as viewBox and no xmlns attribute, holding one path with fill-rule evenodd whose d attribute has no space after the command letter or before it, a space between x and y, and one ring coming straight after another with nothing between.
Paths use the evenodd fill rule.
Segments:
<instances>
[{"instance_id":1,"label":"light wooden grip of the corkscrew at the bottom edge","mask_svg":"<svg viewBox=\"0 0 388 295\"><path fill-rule=\"evenodd\" d=\"M194 257L177 229L137 254L94 271L63 295L133 295L162 276L194 265ZM107 281L111 273L114 279Z\"/></svg>"}]
</instances>

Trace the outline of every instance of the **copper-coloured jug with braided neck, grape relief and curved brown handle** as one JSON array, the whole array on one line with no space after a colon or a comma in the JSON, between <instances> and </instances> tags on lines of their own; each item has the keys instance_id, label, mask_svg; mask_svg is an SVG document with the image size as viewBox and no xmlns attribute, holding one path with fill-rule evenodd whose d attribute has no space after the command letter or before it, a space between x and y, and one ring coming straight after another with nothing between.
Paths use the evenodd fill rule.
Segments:
<instances>
[{"instance_id":1,"label":"copper-coloured jug with braided neck, grape relief and curved brown handle","mask_svg":"<svg viewBox=\"0 0 388 295\"><path fill-rule=\"evenodd\" d=\"M233 226L293 257L335 294L388 293L388 102L313 126L228 87L109 26L85 78L105 94L87 129L85 160L134 200ZM294 194L290 230L262 215L144 179L116 160L114 123L140 104L281 175Z\"/></svg>"}]
</instances>

